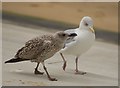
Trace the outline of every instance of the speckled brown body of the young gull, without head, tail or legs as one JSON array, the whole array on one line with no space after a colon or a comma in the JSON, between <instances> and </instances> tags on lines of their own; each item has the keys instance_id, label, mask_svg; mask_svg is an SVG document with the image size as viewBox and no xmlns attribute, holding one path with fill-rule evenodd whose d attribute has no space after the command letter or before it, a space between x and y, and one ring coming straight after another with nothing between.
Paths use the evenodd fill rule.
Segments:
<instances>
[{"instance_id":1,"label":"speckled brown body of the young gull, without head, tail or legs","mask_svg":"<svg viewBox=\"0 0 120 88\"><path fill-rule=\"evenodd\" d=\"M43 35L27 41L25 46L18 50L15 57L41 62L52 57L63 47L63 41L59 41L53 35Z\"/></svg>"}]
</instances>

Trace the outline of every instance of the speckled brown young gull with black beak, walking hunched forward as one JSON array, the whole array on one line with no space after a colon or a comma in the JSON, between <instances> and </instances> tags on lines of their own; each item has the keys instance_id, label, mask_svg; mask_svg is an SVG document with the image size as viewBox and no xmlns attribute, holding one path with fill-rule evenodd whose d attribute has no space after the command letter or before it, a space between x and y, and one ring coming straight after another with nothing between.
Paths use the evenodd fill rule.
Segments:
<instances>
[{"instance_id":1,"label":"speckled brown young gull with black beak, walking hunched forward","mask_svg":"<svg viewBox=\"0 0 120 88\"><path fill-rule=\"evenodd\" d=\"M43 74L38 71L38 66L42 63L43 68L51 81L57 81L55 78L51 78L44 64L44 60L52 57L56 52L64 47L64 42L69 37L75 37L75 33L65 33L62 31L56 32L55 34L42 35L33 38L25 43L25 46L18 50L14 58L6 61L5 63L15 63L20 61L30 60L37 62L35 68L35 74Z\"/></svg>"}]
</instances>

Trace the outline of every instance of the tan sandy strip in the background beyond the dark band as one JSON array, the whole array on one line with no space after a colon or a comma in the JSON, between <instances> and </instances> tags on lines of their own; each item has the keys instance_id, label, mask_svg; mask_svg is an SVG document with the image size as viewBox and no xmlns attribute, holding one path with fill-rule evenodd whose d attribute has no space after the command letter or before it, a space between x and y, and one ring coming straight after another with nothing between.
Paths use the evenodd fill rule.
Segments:
<instances>
[{"instance_id":1,"label":"tan sandy strip in the background beyond the dark band","mask_svg":"<svg viewBox=\"0 0 120 88\"><path fill-rule=\"evenodd\" d=\"M118 32L117 3L3 3L3 10L76 25L87 15L95 27Z\"/></svg>"}]
</instances>

